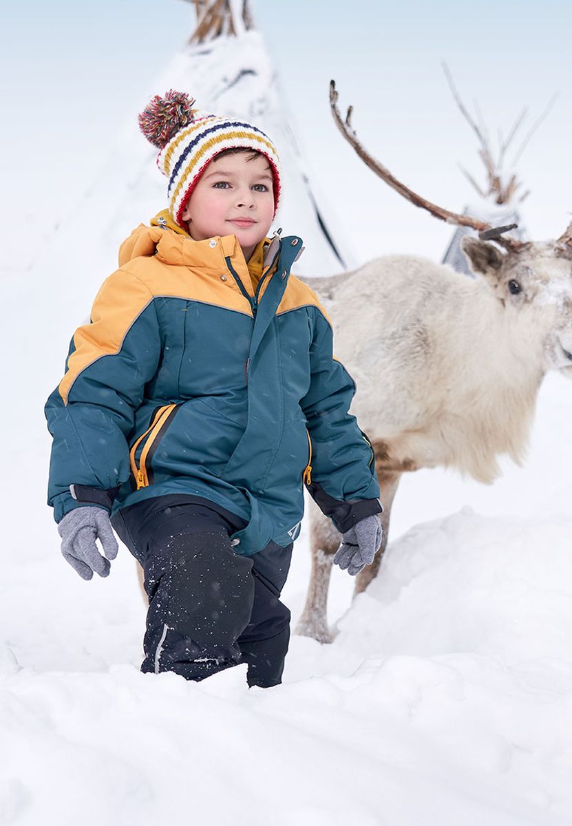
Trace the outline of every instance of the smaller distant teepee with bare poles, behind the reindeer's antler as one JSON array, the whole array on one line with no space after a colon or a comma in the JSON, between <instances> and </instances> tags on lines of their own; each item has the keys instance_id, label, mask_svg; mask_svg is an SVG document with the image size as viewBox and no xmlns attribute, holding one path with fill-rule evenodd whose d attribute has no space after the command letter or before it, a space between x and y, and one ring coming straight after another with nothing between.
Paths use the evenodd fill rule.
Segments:
<instances>
[{"instance_id":1,"label":"smaller distant teepee with bare poles, behind the reindeer's antler","mask_svg":"<svg viewBox=\"0 0 572 826\"><path fill-rule=\"evenodd\" d=\"M503 138L499 133L499 148L498 153L495 154L489 139L489 132L484 126L482 119L478 124L466 109L464 103L460 99L459 93L455 88L455 84L450 76L450 72L444 66L446 76L450 84L451 92L455 97L455 102L460 108L465 120L469 122L472 130L477 135L479 140L479 157L484 163L486 170L486 183L484 186L479 186L474 177L470 175L465 169L465 177L476 191L470 202L465 206L464 215L470 215L477 218L479 221L484 221L493 226L508 226L516 224L517 228L512 230L512 237L518 240L527 239L527 230L522 223L522 215L519 210L519 205L529 195L529 191L522 192L522 183L518 179L515 164L522 155L522 151L530 140L531 135L536 131L541 120L546 116L551 104L541 118L536 121L534 126L528 132L526 139L522 142L519 150L512 158L512 169L505 168L507 153L512 140L517 135L517 131L522 126L523 121L527 115L527 110L524 109L517 117L517 120L512 125L508 136ZM480 116L480 113L479 113ZM462 169L462 168L461 168ZM460 242L465 235L476 235L476 230L471 230L466 226L458 226L453 233L450 244L443 256L443 263L450 264L457 272L471 274L469 264L465 258L465 254L460 249Z\"/></svg>"}]
</instances>

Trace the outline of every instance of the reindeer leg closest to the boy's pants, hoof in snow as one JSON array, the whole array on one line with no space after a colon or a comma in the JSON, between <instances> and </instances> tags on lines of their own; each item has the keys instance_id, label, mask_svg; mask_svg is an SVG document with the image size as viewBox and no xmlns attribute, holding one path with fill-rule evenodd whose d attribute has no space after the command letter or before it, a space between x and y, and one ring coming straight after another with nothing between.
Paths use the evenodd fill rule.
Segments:
<instances>
[{"instance_id":1,"label":"reindeer leg closest to the boy's pants, hoof in snow","mask_svg":"<svg viewBox=\"0 0 572 826\"><path fill-rule=\"evenodd\" d=\"M312 506L310 515L312 544L312 576L307 590L306 605L298 620L295 634L312 637L318 643L331 643L327 626L327 592L330 587L331 563L340 544L340 534L331 520Z\"/></svg>"}]
</instances>

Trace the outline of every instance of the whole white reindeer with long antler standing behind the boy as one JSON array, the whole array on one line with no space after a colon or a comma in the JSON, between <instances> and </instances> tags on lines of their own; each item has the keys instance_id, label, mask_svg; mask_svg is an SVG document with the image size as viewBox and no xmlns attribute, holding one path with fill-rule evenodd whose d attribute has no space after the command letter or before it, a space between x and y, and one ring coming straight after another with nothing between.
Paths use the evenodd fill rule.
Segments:
<instances>
[{"instance_id":1,"label":"whole white reindeer with long antler standing behind the boy","mask_svg":"<svg viewBox=\"0 0 572 826\"><path fill-rule=\"evenodd\" d=\"M351 273L307 279L333 320L336 356L358 387L352 412L376 453L384 537L356 579L357 594L379 571L403 473L441 466L490 484L500 455L522 463L547 371L572 377L572 222L557 240L525 243L504 237L514 225L493 229L437 207L369 155L351 127L351 107L343 121L336 101L332 81L337 126L382 180L436 218L479 232L462 241L476 278L389 255ZM296 630L325 643L340 537L315 506L310 524L312 578Z\"/></svg>"}]
</instances>

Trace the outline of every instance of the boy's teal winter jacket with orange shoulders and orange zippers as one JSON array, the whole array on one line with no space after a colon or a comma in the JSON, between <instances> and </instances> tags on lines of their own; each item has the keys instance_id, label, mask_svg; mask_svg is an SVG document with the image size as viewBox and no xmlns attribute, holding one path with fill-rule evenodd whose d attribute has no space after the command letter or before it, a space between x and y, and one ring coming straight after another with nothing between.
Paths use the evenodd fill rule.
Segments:
<instances>
[{"instance_id":1,"label":"boy's teal winter jacket with orange shoulders and orange zippers","mask_svg":"<svg viewBox=\"0 0 572 826\"><path fill-rule=\"evenodd\" d=\"M296 538L303 482L340 530L381 510L354 382L290 275L301 245L260 242L255 278L234 235L195 241L162 220L131 233L45 407L57 521L188 496L245 520L233 539L251 554Z\"/></svg>"}]
</instances>

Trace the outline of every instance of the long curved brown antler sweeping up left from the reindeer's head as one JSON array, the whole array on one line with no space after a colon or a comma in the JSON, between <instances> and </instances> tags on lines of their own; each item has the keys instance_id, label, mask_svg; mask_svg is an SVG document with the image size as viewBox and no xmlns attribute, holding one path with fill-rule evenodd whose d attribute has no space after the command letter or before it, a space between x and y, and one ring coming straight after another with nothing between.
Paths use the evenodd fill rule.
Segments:
<instances>
[{"instance_id":1,"label":"long curved brown antler sweeping up left from the reindeer's head","mask_svg":"<svg viewBox=\"0 0 572 826\"><path fill-rule=\"evenodd\" d=\"M383 164L380 164L378 160L374 159L374 157L370 155L369 152L361 145L360 140L351 126L353 107L348 107L346 120L344 121L341 117L340 110L337 107L337 98L338 93L336 91L336 82L331 80L330 107L338 129L341 131L341 134L344 135L348 143L354 147L355 152L364 161L366 166L369 166L369 169L373 169L374 173L379 175L379 178L385 181L385 183L388 183L392 189L399 192L399 194L403 195L404 198L407 198L408 201L410 201L415 207L422 207L422 209L426 209L428 212L431 212L431 215L439 218L440 221L446 221L447 224L470 226L473 230L477 230L479 233L494 230L494 240L498 244L501 244L505 249L509 249L511 252L518 252L522 249L525 245L522 241L512 238L502 238L499 235L500 232L506 232L509 229L514 229L517 226L516 224L511 224L507 227L493 228L492 225L486 223L485 221L479 221L478 218L473 218L468 215L459 215L458 212L451 212L450 210L443 209L443 207L437 207L436 204L431 203L431 201L427 201L426 198L423 198L420 195L417 195L417 192L413 192L413 190L406 187L404 183L398 181L398 179L395 178Z\"/></svg>"}]
</instances>

